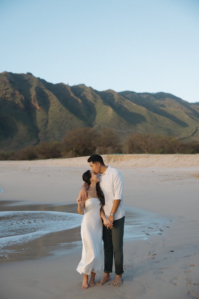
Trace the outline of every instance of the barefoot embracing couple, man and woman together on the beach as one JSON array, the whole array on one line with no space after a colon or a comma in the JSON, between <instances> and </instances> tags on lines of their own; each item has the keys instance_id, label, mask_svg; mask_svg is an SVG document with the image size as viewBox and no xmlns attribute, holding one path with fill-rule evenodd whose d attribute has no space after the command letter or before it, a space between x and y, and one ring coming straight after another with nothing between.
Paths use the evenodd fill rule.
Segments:
<instances>
[{"instance_id":1,"label":"barefoot embracing couple, man and woman together on the beach","mask_svg":"<svg viewBox=\"0 0 199 299\"><path fill-rule=\"evenodd\" d=\"M82 257L77 271L84 274L82 289L96 286L95 273L101 271L101 239L104 241L103 285L112 273L113 256L116 278L112 286L121 286L123 271L124 181L119 170L106 166L100 155L88 160L91 170L83 174L83 184L77 199L78 213L84 212L81 223ZM88 276L90 282L88 282Z\"/></svg>"}]
</instances>

